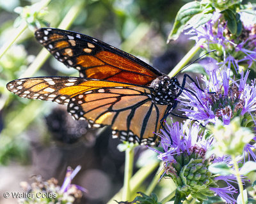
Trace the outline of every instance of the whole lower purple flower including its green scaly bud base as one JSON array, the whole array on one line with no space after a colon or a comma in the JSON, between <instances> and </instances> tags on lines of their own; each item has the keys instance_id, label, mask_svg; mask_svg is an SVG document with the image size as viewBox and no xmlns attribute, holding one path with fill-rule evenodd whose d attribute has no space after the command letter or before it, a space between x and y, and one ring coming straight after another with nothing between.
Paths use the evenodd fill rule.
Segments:
<instances>
[{"instance_id":1,"label":"whole lower purple flower including its green scaly bud base","mask_svg":"<svg viewBox=\"0 0 256 204\"><path fill-rule=\"evenodd\" d=\"M180 124L172 122L167 126L167 131L161 129L160 147L163 150L156 150L148 147L158 154L158 159L164 162L166 176L172 177L177 185L177 194L188 196L192 194L193 198L199 196L207 199L207 196L217 194L227 203L234 203L236 200L232 198L234 193L237 193L235 187L230 184L236 183L233 175L217 176L207 170L209 163L215 160L230 163L228 157L210 157L205 158L205 152L215 142L214 138L205 139L205 133L200 129L198 124ZM172 138L173 142L171 142ZM218 180L224 180L227 183L226 187L219 187ZM200 191L203 194L200 194ZM205 197L204 197L205 196ZM179 196L177 196L179 197Z\"/></svg>"}]
</instances>

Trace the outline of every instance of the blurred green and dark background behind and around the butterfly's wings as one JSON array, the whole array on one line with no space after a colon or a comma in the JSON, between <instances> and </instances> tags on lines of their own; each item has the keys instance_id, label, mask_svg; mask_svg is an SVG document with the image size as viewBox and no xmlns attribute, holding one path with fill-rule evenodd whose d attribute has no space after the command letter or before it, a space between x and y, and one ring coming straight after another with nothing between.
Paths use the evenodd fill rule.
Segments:
<instances>
[{"instance_id":1,"label":"blurred green and dark background behind and around the butterfly's wings","mask_svg":"<svg viewBox=\"0 0 256 204\"><path fill-rule=\"evenodd\" d=\"M76 19L69 30L87 34L125 52L129 52L159 69L170 70L193 46L184 36L166 44L175 15L188 1L179 0L52 0L42 17L49 27L58 27L74 5L79 4ZM36 1L0 0L0 47L17 32L17 6ZM65 24L65 22L64 22ZM5 191L21 192L20 182L31 183L32 175L45 180L54 177L61 186L67 166L81 171L72 180L83 186L79 203L107 203L122 187L124 152L116 149L119 140L111 138L111 129L88 129L85 120L75 121L66 106L46 101L23 99L6 90L6 84L20 78L42 46L36 42L33 28L26 31L0 59L0 203L17 203L4 199ZM54 57L38 66L35 76L76 76ZM135 163L145 147L136 149ZM134 166L136 171L138 166Z\"/></svg>"}]
</instances>

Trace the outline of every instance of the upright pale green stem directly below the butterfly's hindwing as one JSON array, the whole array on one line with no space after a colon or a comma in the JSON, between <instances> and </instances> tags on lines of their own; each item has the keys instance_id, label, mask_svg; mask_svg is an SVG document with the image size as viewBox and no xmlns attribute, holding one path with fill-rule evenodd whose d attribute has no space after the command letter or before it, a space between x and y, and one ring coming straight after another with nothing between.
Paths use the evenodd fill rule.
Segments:
<instances>
[{"instance_id":1,"label":"upright pale green stem directly below the butterfly's hindwing","mask_svg":"<svg viewBox=\"0 0 256 204\"><path fill-rule=\"evenodd\" d=\"M133 159L134 147L129 147L125 150L124 191L122 195L123 201L128 201L131 198L130 180L132 177Z\"/></svg>"}]
</instances>

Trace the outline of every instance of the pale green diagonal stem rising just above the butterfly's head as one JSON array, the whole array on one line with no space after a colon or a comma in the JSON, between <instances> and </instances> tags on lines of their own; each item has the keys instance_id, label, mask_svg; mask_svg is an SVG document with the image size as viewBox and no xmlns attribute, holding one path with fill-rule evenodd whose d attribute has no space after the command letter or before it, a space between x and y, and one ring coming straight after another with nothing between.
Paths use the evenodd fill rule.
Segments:
<instances>
[{"instance_id":1,"label":"pale green diagonal stem rising just above the butterfly's head","mask_svg":"<svg viewBox=\"0 0 256 204\"><path fill-rule=\"evenodd\" d=\"M175 66L175 68L172 69L168 76L174 77L175 75L177 75L177 73L179 73L179 71L184 68L184 66L186 66L186 64L188 64L188 62L195 56L196 52L200 50L200 46L202 45L202 43L204 43L204 40L199 40L198 43L196 43L195 47L191 48L191 50L189 50L189 52L181 59L181 61Z\"/></svg>"}]
</instances>

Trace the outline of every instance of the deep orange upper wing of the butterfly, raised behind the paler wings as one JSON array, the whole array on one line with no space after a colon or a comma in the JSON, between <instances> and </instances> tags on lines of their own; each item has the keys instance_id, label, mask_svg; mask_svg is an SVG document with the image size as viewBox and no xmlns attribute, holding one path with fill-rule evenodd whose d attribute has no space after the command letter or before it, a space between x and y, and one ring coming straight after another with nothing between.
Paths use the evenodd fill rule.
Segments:
<instances>
[{"instance_id":1,"label":"deep orange upper wing of the butterfly, raised behind the paler wings","mask_svg":"<svg viewBox=\"0 0 256 204\"><path fill-rule=\"evenodd\" d=\"M72 31L41 28L36 40L81 77L149 85L163 75L140 59L100 40Z\"/></svg>"}]
</instances>

